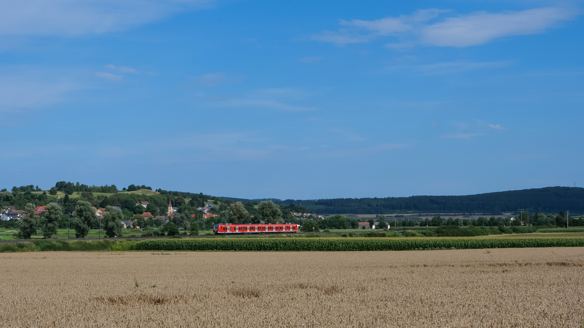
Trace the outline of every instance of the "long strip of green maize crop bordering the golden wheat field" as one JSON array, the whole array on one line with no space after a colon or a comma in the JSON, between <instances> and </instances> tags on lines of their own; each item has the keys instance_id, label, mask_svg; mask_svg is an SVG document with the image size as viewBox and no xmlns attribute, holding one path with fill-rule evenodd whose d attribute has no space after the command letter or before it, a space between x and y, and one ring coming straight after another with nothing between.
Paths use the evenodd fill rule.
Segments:
<instances>
[{"instance_id":1,"label":"long strip of green maize crop bordering the golden wheat field","mask_svg":"<svg viewBox=\"0 0 584 328\"><path fill-rule=\"evenodd\" d=\"M363 251L582 247L584 238L393 239L393 238L220 238L154 239L112 245L112 250Z\"/></svg>"}]
</instances>

